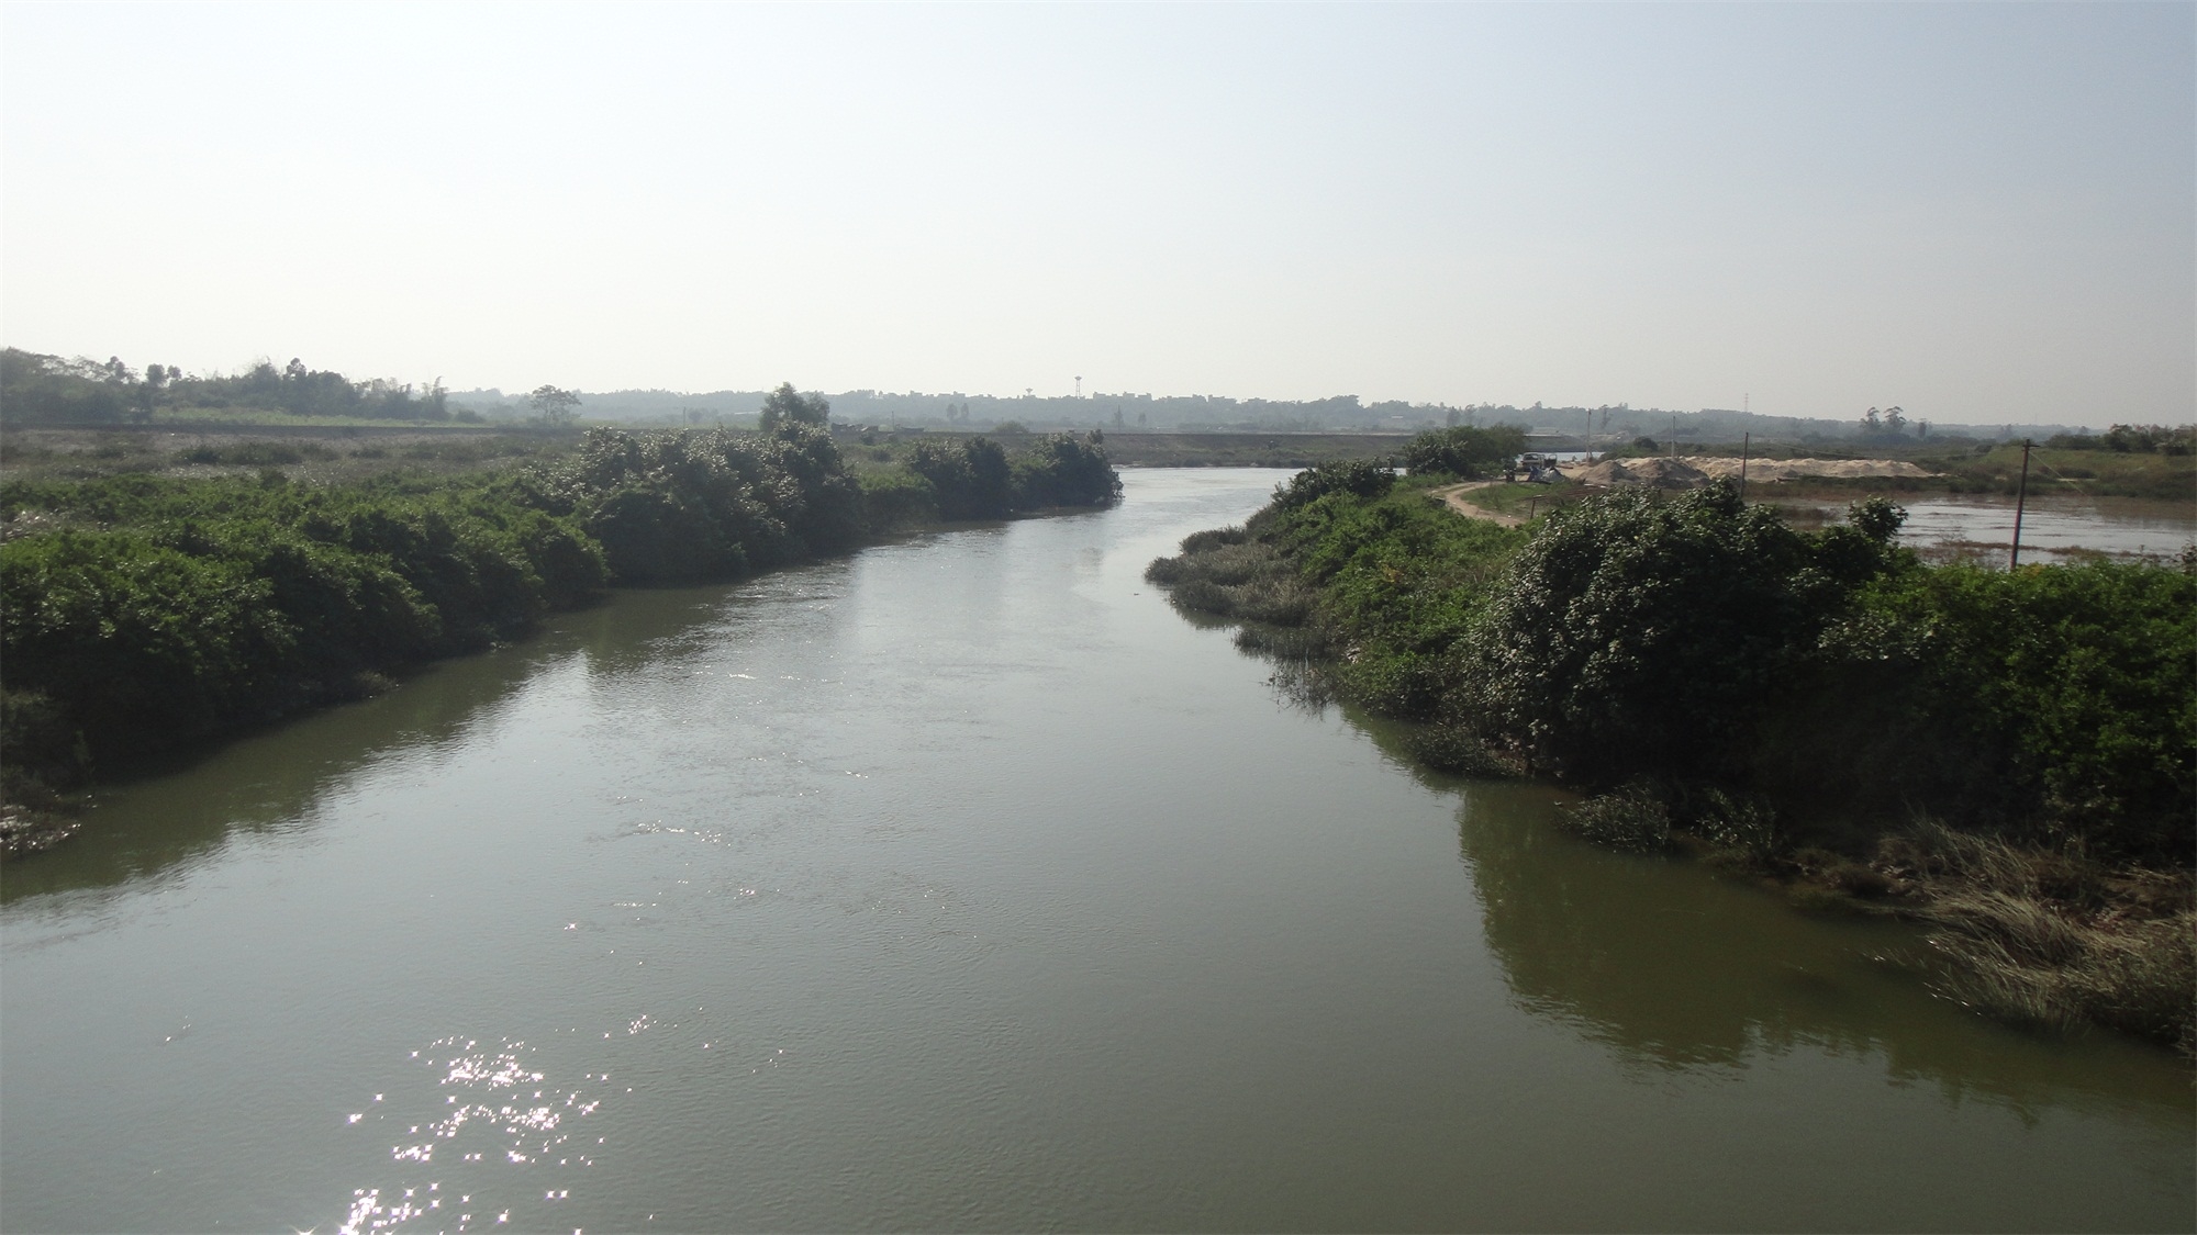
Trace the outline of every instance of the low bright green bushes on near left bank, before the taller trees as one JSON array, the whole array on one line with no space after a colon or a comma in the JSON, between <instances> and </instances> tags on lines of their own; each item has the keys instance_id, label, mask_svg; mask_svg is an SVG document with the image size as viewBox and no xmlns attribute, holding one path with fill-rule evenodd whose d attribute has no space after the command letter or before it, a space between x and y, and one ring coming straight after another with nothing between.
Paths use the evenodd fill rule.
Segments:
<instances>
[{"instance_id":1,"label":"low bright green bushes on near left bank, before the taller trees","mask_svg":"<svg viewBox=\"0 0 2197 1235\"><path fill-rule=\"evenodd\" d=\"M492 486L281 479L0 486L77 527L0 545L11 694L90 756L158 749L486 646L604 582L569 519ZM77 741L15 725L29 754ZM7 752L9 771L24 752Z\"/></svg>"}]
</instances>

